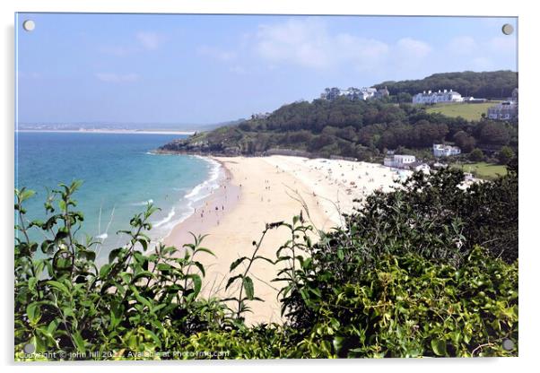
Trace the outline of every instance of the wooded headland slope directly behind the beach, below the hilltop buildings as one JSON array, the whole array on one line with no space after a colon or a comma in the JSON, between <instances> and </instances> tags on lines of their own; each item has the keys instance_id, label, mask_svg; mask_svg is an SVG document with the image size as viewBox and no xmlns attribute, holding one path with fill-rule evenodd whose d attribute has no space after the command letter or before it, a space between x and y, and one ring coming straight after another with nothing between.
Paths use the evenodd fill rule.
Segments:
<instances>
[{"instance_id":1,"label":"wooded headland slope directly behind the beach, below the hilltop buildings","mask_svg":"<svg viewBox=\"0 0 540 373\"><path fill-rule=\"evenodd\" d=\"M387 149L430 150L433 143L457 143L464 152L475 146L516 147L518 126L482 119L429 114L418 106L385 100L301 101L284 105L266 118L195 134L161 147L166 152L253 155L271 149L374 160Z\"/></svg>"}]
</instances>

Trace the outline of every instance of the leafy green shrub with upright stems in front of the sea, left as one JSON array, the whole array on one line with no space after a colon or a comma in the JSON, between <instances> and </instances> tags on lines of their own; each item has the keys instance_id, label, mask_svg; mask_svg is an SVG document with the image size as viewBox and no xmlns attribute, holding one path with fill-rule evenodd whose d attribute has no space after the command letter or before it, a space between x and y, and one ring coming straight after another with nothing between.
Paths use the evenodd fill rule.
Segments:
<instances>
[{"instance_id":1,"label":"leafy green shrub with upright stems in front of the sea, left","mask_svg":"<svg viewBox=\"0 0 540 373\"><path fill-rule=\"evenodd\" d=\"M200 246L201 238L182 250L159 245L144 254L152 205L130 221L131 230L120 232L129 237L128 244L112 250L109 263L98 268L96 243L82 244L74 236L83 221L83 213L72 210L78 186L53 191L45 205L48 220L28 225L22 203L32 192L16 191L16 351L30 343L39 353L122 357L166 348L170 330L193 334L227 325L221 301L198 297L205 268L196 257L213 255ZM40 230L46 239L32 242L29 229Z\"/></svg>"}]
</instances>

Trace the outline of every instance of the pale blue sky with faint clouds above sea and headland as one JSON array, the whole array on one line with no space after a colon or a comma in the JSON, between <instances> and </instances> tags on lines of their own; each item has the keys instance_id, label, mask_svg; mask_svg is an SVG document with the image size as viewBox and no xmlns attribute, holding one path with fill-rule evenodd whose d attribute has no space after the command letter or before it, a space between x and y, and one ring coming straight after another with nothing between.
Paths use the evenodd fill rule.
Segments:
<instances>
[{"instance_id":1,"label":"pale blue sky with faint clouds above sea and headland","mask_svg":"<svg viewBox=\"0 0 540 373\"><path fill-rule=\"evenodd\" d=\"M34 30L22 29L26 20ZM15 21L20 123L210 124L313 100L326 87L518 70L516 18L18 13ZM504 23L516 31L504 35Z\"/></svg>"}]
</instances>

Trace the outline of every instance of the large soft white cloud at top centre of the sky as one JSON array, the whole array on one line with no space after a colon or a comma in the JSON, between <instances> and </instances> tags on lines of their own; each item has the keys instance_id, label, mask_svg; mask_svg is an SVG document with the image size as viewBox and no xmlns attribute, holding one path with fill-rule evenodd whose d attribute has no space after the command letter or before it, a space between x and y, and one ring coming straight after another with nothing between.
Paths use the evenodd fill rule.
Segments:
<instances>
[{"instance_id":1,"label":"large soft white cloud at top centre of the sky","mask_svg":"<svg viewBox=\"0 0 540 373\"><path fill-rule=\"evenodd\" d=\"M255 39L257 55L274 65L325 69L349 63L370 69L388 54L388 45L382 41L347 33L333 35L318 18L260 25Z\"/></svg>"}]
</instances>

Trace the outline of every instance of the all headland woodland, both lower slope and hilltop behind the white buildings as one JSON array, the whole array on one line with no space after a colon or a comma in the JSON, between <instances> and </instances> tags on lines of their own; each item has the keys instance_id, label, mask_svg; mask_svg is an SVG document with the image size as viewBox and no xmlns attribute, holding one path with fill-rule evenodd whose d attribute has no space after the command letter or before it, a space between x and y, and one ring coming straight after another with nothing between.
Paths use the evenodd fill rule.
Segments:
<instances>
[{"instance_id":1,"label":"all headland woodland, both lower slope and hilltop behind the white buildings","mask_svg":"<svg viewBox=\"0 0 540 373\"><path fill-rule=\"evenodd\" d=\"M444 116L431 108L411 105L412 95L418 92L450 88L464 96L506 98L518 86L516 73L433 74L417 81L376 85L379 89L385 86L391 93L386 98L297 101L268 117L254 116L238 126L223 126L165 144L161 151L254 155L279 149L322 157L380 160L386 150L402 148L414 154L441 142L456 143L466 153L475 147L497 152L503 145L518 146L517 123L477 116L471 120L465 114ZM473 108L475 104L461 106Z\"/></svg>"}]
</instances>

